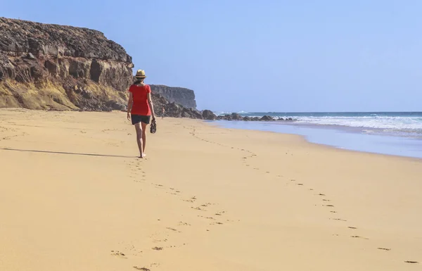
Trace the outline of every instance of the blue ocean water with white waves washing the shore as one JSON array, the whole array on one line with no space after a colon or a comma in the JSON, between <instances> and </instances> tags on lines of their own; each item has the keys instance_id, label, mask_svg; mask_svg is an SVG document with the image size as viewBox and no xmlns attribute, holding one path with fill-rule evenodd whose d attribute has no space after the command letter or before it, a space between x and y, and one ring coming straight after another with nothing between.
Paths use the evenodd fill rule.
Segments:
<instances>
[{"instance_id":1,"label":"blue ocean water with white waves washing the shore","mask_svg":"<svg viewBox=\"0 0 422 271\"><path fill-rule=\"evenodd\" d=\"M422 112L240 114L250 117L271 115L295 121L217 123L237 129L300 134L313 143L340 149L422 158Z\"/></svg>"}]
</instances>

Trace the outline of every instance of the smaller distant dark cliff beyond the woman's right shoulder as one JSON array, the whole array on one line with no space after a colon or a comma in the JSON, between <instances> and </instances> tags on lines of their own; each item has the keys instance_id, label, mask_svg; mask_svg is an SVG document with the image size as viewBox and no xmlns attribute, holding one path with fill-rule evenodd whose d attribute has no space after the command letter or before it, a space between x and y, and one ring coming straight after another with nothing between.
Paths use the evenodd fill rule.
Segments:
<instances>
[{"instance_id":1,"label":"smaller distant dark cliff beyond the woman's right shoulder","mask_svg":"<svg viewBox=\"0 0 422 271\"><path fill-rule=\"evenodd\" d=\"M192 89L151 84L151 92L160 94L160 96L163 96L168 101L179 103L186 108L196 108L195 93Z\"/></svg>"}]
</instances>

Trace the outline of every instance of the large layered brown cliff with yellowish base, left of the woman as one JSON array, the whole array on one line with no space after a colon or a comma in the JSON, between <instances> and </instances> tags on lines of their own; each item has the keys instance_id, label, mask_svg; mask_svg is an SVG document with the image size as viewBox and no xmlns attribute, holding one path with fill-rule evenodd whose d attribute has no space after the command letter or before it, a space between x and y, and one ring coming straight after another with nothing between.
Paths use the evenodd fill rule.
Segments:
<instances>
[{"instance_id":1,"label":"large layered brown cliff with yellowish base, left of the woman","mask_svg":"<svg viewBox=\"0 0 422 271\"><path fill-rule=\"evenodd\" d=\"M125 108L132 57L87 28L0 18L0 108Z\"/></svg>"}]
</instances>

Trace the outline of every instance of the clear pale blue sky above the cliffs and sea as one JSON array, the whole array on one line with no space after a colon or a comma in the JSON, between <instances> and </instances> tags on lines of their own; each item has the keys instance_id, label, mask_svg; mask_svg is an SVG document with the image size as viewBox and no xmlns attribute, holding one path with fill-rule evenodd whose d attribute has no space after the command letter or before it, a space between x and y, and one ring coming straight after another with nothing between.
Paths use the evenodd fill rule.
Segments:
<instances>
[{"instance_id":1,"label":"clear pale blue sky above the cliffs and sea","mask_svg":"<svg viewBox=\"0 0 422 271\"><path fill-rule=\"evenodd\" d=\"M6 1L100 30L214 111L422 111L422 1Z\"/></svg>"}]
</instances>

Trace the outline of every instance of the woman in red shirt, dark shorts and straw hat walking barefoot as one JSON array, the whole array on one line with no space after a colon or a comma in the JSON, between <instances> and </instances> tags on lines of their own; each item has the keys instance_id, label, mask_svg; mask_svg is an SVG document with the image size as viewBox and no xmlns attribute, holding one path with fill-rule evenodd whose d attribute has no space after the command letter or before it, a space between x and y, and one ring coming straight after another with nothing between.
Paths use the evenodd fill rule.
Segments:
<instances>
[{"instance_id":1,"label":"woman in red shirt, dark shorts and straw hat walking barefoot","mask_svg":"<svg viewBox=\"0 0 422 271\"><path fill-rule=\"evenodd\" d=\"M136 81L129 87L129 101L127 102L127 119L132 119L135 125L136 142L139 148L139 158L145 157L146 125L149 124L151 115L155 121L154 106L151 100L151 87L145 84L145 72L136 72Z\"/></svg>"}]
</instances>

